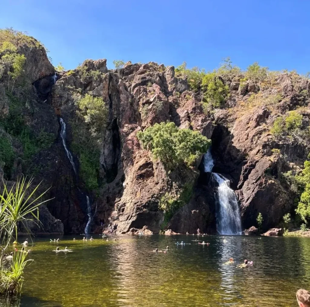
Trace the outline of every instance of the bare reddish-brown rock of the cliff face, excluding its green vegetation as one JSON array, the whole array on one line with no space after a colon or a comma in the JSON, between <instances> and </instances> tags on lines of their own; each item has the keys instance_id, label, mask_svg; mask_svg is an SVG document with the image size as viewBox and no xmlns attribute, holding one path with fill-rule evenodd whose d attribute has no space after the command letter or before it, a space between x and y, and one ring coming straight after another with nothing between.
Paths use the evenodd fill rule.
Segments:
<instances>
[{"instance_id":1,"label":"bare reddish-brown rock of the cliff face, excluding its green vegetation","mask_svg":"<svg viewBox=\"0 0 310 307\"><path fill-rule=\"evenodd\" d=\"M214 171L231 180L244 228L256 225L259 212L263 215L263 228L268 229L291 210L292 195L280 181L281 173L302 166L309 142L297 136L276 139L270 129L277 115L308 106L308 80L279 74L272 82L258 85L247 81L240 87L243 76L223 77L231 95L222 109L206 115L201 106L203 93L189 90L187 77L176 77L173 66L128 62L120 70L112 71L107 69L106 60L86 60L79 70L57 73L57 82L49 89L54 67L44 49L25 45L22 52L27 57L25 72L29 82L37 81L37 94L33 92L32 99L36 111L26 114L27 122L33 133L48 127L55 135L51 148L38 153L33 163L46 165L37 179L44 178L45 186L52 186L50 196L55 196L55 200L48 208L64 223L65 232L81 232L85 227L87 216L79 192L85 191L85 184L75 177L57 138L57 116L61 115L67 123L70 147L74 132L70 123L77 120L76 97L81 94L102 97L109 108L99 145L99 176L104 184L98 191L87 191L93 212L97 207L93 231L102 231L104 221L105 225L117 223L118 232L147 226L148 231L158 233L164 221L159 208L161 196L166 192L177 195L185 183L193 181L191 200L175 212L166 228L180 233L193 233L197 228L216 232L214 189L209 185L210 178L199 173L200 161L196 168L175 169L168 174L136 138L141 129L162 121L173 121L180 128L200 131L212 139ZM250 102L255 93L260 100ZM281 99L272 102L270 97L277 94ZM45 95L46 101L42 98ZM0 107L6 110L6 105ZM302 112L307 129L309 110L304 108ZM0 132L2 135L3 131ZM81 127L79 133L83 133ZM17 144L16 150L19 148ZM272 153L274 148L281 154ZM20 165L15 161L17 169Z\"/></svg>"}]
</instances>

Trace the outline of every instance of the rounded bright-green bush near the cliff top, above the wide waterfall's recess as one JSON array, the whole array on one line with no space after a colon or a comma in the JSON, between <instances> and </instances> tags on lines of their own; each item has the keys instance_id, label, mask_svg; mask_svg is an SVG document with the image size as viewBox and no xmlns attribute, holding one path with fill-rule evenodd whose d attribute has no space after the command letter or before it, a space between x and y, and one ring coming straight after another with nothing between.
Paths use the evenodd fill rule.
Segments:
<instances>
[{"instance_id":1,"label":"rounded bright-green bush near the cliff top, above the wide waterfall's recess","mask_svg":"<svg viewBox=\"0 0 310 307\"><path fill-rule=\"evenodd\" d=\"M215 108L219 108L229 96L229 88L215 72L208 73L202 78L204 99Z\"/></svg>"}]
</instances>

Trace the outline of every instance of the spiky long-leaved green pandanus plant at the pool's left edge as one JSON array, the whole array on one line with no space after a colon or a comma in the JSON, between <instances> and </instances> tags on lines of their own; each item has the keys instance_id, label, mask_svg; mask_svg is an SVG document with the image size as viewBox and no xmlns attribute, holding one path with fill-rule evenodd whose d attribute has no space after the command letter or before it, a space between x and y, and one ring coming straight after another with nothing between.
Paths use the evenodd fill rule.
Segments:
<instances>
[{"instance_id":1,"label":"spiky long-leaved green pandanus plant at the pool's left edge","mask_svg":"<svg viewBox=\"0 0 310 307\"><path fill-rule=\"evenodd\" d=\"M12 259L10 268L5 265L5 253L10 247L12 239L18 233L18 224L22 223L30 233L28 222L39 223L39 206L48 200L42 200L42 194L36 193L42 181L30 189L33 178L18 177L9 188L2 178L0 186L0 240L2 253L0 256L0 293L15 294L20 292L23 282L23 270L31 259L26 260L28 252L19 251Z\"/></svg>"}]
</instances>

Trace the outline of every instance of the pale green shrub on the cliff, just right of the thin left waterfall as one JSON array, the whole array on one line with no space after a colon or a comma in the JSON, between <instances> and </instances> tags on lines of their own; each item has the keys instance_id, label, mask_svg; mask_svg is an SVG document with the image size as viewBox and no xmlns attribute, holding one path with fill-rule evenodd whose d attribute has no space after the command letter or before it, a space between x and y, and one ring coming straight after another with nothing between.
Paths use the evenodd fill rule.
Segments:
<instances>
[{"instance_id":1,"label":"pale green shrub on the cliff, just right of the thin left waterfall","mask_svg":"<svg viewBox=\"0 0 310 307\"><path fill-rule=\"evenodd\" d=\"M78 114L90 125L93 134L100 133L108 119L108 106L102 97L93 97L86 94L77 102Z\"/></svg>"}]
</instances>

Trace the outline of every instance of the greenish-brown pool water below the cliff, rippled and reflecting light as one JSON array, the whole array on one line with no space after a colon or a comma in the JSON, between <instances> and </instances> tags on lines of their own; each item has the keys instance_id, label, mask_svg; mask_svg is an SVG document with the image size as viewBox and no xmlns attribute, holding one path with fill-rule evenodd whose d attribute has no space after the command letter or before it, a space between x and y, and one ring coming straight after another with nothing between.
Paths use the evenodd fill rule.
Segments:
<instances>
[{"instance_id":1,"label":"greenish-brown pool water below the cliff, rippled and reflecting light","mask_svg":"<svg viewBox=\"0 0 310 307\"><path fill-rule=\"evenodd\" d=\"M297 306L297 289L310 289L308 238L205 236L210 246L202 246L196 236L94 237L60 238L60 249L73 250L67 254L35 238L22 296L0 306L287 307ZM175 245L182 240L191 245ZM152 252L166 245L167 254ZM229 257L234 265L224 264ZM253 267L236 268L243 259Z\"/></svg>"}]
</instances>

